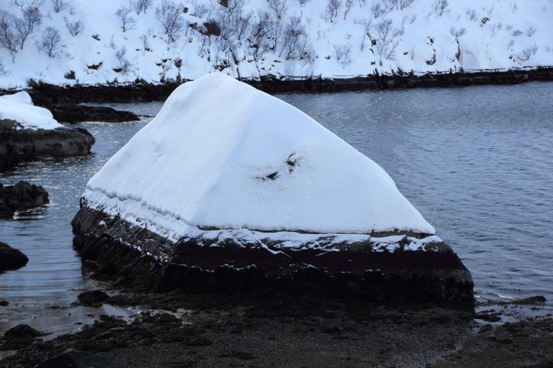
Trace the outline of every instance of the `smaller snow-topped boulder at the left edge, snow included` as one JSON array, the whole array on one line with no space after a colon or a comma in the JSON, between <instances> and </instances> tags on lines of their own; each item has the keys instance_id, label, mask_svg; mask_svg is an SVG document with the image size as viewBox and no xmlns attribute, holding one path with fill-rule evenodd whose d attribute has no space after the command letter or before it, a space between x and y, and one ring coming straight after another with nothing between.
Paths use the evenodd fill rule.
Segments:
<instances>
[{"instance_id":1,"label":"smaller snow-topped boulder at the left edge, snow included","mask_svg":"<svg viewBox=\"0 0 553 368\"><path fill-rule=\"evenodd\" d=\"M27 93L0 97L0 170L19 162L86 155L94 142L87 130L65 128L49 110L32 105Z\"/></svg>"}]
</instances>

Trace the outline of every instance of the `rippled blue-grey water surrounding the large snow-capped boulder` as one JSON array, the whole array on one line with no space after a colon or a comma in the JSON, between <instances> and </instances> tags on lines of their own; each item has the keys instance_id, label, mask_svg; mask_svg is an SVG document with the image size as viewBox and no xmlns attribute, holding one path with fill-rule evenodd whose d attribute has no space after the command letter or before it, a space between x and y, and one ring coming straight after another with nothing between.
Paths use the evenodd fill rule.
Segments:
<instances>
[{"instance_id":1,"label":"rippled blue-grey water surrounding the large snow-capped boulder","mask_svg":"<svg viewBox=\"0 0 553 368\"><path fill-rule=\"evenodd\" d=\"M453 246L482 297L553 299L553 84L280 95L371 157ZM120 104L155 115L161 103ZM0 331L75 300L87 281L71 248L86 181L144 124L79 124L90 157L23 166L6 183L43 185L52 204L0 221L30 258L0 274Z\"/></svg>"}]
</instances>

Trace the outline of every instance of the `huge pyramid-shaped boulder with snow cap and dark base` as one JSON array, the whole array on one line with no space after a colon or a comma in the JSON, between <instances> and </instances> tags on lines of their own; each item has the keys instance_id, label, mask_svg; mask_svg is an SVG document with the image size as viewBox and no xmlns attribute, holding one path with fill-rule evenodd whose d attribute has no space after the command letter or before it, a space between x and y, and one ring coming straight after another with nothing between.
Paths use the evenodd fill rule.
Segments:
<instances>
[{"instance_id":1,"label":"huge pyramid-shaped boulder with snow cap and dark base","mask_svg":"<svg viewBox=\"0 0 553 368\"><path fill-rule=\"evenodd\" d=\"M451 248L375 162L222 74L180 86L87 184L74 244L158 290L473 304Z\"/></svg>"}]
</instances>

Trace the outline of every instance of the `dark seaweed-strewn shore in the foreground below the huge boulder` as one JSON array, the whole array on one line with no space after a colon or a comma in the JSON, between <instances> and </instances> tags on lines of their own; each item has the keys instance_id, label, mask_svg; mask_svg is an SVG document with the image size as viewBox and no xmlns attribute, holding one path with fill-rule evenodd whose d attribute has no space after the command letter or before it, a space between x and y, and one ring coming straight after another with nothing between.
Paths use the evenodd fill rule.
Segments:
<instances>
[{"instance_id":1,"label":"dark seaweed-strewn shore in the foreground below the huge boulder","mask_svg":"<svg viewBox=\"0 0 553 368\"><path fill-rule=\"evenodd\" d=\"M553 358L550 319L492 327L467 311L259 297L120 292L106 302L140 304L133 322L100 316L0 365L32 367L66 349L121 367L547 367Z\"/></svg>"}]
</instances>

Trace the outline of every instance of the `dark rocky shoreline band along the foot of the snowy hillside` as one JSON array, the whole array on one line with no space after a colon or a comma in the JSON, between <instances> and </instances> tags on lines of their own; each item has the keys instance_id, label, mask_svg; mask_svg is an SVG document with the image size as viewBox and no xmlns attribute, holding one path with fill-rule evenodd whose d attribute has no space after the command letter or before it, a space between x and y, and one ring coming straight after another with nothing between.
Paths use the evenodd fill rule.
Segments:
<instances>
[{"instance_id":1,"label":"dark rocky shoreline band along the foot of the snowy hillside","mask_svg":"<svg viewBox=\"0 0 553 368\"><path fill-rule=\"evenodd\" d=\"M518 70L479 70L472 72L436 72L425 75L395 73L391 75L364 75L336 79L321 77L262 76L260 79L241 81L266 93L331 93L359 90L387 90L398 88L449 88L485 84L521 84L527 81L553 81L553 66ZM132 84L106 84L99 86L55 86L31 80L28 93L38 106L80 103L113 103L165 100L180 84L150 84L136 80ZM0 95L15 91L0 90Z\"/></svg>"}]
</instances>

